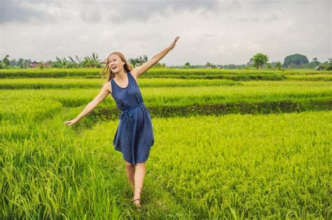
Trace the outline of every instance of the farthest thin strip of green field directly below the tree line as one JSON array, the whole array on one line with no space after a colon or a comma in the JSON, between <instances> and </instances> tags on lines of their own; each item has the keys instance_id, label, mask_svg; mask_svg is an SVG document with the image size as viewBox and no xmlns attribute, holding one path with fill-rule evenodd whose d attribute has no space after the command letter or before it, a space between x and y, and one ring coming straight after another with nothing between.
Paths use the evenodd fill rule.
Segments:
<instances>
[{"instance_id":1,"label":"farthest thin strip of green field directly below the tree line","mask_svg":"<svg viewBox=\"0 0 332 220\"><path fill-rule=\"evenodd\" d=\"M100 78L102 68L37 68L3 69L0 78ZM151 68L141 78L225 79L225 80L291 80L289 75L329 75L332 71L316 70L223 70L223 69L177 69Z\"/></svg>"}]
</instances>

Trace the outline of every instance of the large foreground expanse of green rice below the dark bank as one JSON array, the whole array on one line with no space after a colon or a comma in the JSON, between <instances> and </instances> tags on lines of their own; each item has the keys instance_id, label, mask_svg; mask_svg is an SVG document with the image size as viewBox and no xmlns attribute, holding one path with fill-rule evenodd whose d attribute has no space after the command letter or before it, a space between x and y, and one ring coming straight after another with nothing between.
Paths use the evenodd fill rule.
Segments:
<instances>
[{"instance_id":1,"label":"large foreground expanse of green rice below the dark bank","mask_svg":"<svg viewBox=\"0 0 332 220\"><path fill-rule=\"evenodd\" d=\"M142 213L117 123L75 135L61 113L1 142L2 218L331 217L331 112L153 119Z\"/></svg>"}]
</instances>

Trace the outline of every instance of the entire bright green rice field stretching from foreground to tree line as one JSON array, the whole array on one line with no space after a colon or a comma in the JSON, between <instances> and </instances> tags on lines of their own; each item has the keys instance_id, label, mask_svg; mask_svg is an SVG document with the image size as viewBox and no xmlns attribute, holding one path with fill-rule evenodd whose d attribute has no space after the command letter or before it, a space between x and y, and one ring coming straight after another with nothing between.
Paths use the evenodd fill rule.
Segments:
<instances>
[{"instance_id":1,"label":"entire bright green rice field stretching from foreground to tree line","mask_svg":"<svg viewBox=\"0 0 332 220\"><path fill-rule=\"evenodd\" d=\"M332 71L151 69L141 195L98 71L1 70L0 219L331 219Z\"/></svg>"}]
</instances>

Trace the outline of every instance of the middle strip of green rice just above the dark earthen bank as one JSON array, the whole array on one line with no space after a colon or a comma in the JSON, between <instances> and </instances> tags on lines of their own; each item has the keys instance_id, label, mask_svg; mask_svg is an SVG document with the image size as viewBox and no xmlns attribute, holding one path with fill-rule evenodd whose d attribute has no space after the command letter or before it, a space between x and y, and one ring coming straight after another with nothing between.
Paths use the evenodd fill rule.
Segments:
<instances>
[{"instance_id":1,"label":"middle strip of green rice just above the dark earthen bank","mask_svg":"<svg viewBox=\"0 0 332 220\"><path fill-rule=\"evenodd\" d=\"M142 79L143 80L143 79ZM145 79L144 79L145 80ZM1 83L1 82L0 82ZM140 82L139 82L140 83ZM32 97L60 101L74 107L86 105L99 93L99 89L6 89L1 90L2 105L6 101L27 102ZM331 97L330 82L241 82L229 86L191 87L141 87L141 94L148 106L193 105L194 103L229 103L237 101L267 101L289 98ZM113 98L107 97L102 105L115 106ZM23 104L24 106L24 104ZM3 108L6 108L4 106Z\"/></svg>"}]
</instances>

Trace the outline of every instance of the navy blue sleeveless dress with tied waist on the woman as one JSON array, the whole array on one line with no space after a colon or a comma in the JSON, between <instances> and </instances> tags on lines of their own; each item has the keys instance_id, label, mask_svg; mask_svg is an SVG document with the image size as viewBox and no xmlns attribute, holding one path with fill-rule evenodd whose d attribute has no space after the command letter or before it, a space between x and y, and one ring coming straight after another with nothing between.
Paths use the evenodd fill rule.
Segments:
<instances>
[{"instance_id":1,"label":"navy blue sleeveless dress with tied waist on the woman","mask_svg":"<svg viewBox=\"0 0 332 220\"><path fill-rule=\"evenodd\" d=\"M136 165L148 159L154 143L151 115L141 96L141 91L132 73L126 73L127 87L119 87L111 79L112 94L117 107L122 111L118 128L113 138L114 149L123 154L125 161Z\"/></svg>"}]
</instances>

